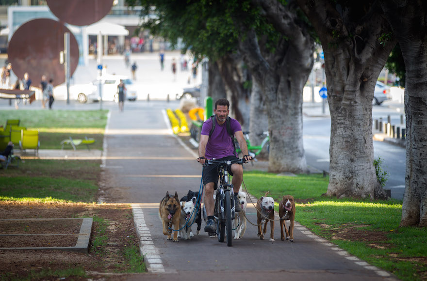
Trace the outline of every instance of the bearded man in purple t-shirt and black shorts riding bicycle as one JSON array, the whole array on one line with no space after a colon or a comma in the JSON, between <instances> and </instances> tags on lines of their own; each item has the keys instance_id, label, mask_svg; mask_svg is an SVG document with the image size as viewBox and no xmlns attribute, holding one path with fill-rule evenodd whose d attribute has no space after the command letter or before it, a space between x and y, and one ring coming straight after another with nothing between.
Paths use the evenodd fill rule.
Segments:
<instances>
[{"instance_id":1,"label":"bearded man in purple t-shirt and black shorts riding bicycle","mask_svg":"<svg viewBox=\"0 0 427 281\"><path fill-rule=\"evenodd\" d=\"M240 148L245 160L252 160L252 156L247 153L247 145L243 136L240 123L233 118L227 121L229 115L230 103L225 98L220 98L215 102L213 114L215 118L209 118L203 123L200 142L198 146L197 161L200 164L205 164L206 159L216 160L233 160L238 159L237 153L233 144L232 136L229 130L233 133L239 142ZM215 124L213 124L215 122ZM229 124L227 124L229 122ZM211 129L214 127L213 131ZM229 127L229 128L227 128ZM229 130L228 130L229 129ZM233 176L232 184L234 191L234 210L241 211L240 203L238 202L238 192L243 181L243 166L240 164L232 164L227 167L230 175ZM205 232L213 233L216 231L213 210L215 203L213 200L213 191L217 188L218 183L217 165L209 165L203 167L203 184L205 193L205 207L208 220L205 225Z\"/></svg>"}]
</instances>

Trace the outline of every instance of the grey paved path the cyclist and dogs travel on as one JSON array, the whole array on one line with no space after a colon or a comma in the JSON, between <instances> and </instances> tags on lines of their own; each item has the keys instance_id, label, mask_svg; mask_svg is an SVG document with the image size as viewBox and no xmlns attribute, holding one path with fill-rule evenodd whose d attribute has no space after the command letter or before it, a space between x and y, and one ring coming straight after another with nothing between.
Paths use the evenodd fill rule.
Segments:
<instances>
[{"instance_id":1,"label":"grey paved path the cyclist and dogs travel on","mask_svg":"<svg viewBox=\"0 0 427 281\"><path fill-rule=\"evenodd\" d=\"M248 223L245 236L227 247L203 232L204 222L200 235L191 240L167 241L158 216L159 202L166 191L177 191L181 198L188 189L198 190L201 167L194 152L170 133L162 110L149 103L125 105L124 112L112 110L105 137L104 199L132 203L149 271L127 280L395 280L299 224L294 243L280 241L279 222L275 242L267 238L269 226L266 239L260 240L257 227ZM250 202L247 214L256 223Z\"/></svg>"}]
</instances>

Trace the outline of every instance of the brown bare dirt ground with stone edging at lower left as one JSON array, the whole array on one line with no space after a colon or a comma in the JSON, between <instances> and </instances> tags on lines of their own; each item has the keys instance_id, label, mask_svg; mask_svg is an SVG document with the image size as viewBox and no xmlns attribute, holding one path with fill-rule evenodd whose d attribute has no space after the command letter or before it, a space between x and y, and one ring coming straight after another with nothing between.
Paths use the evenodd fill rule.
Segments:
<instances>
[{"instance_id":1,"label":"brown bare dirt ground with stone edging at lower left","mask_svg":"<svg viewBox=\"0 0 427 281\"><path fill-rule=\"evenodd\" d=\"M83 268L92 279L105 279L104 273L124 272L128 267L123 251L129 245L138 246L131 207L118 204L38 204L0 202L0 218L34 219L34 218L82 218L94 217L106 219L105 230L107 247L93 247L97 233L98 220L94 219L89 253L67 252L62 250L0 250L0 280L22 280L33 272L63 270L65 268ZM25 223L7 221L0 223L0 234L34 234L34 233L78 233L78 221L68 220L53 223L36 223L33 220ZM0 236L1 237L1 236ZM48 235L29 236L19 241L17 236L0 239L0 247L52 247L75 246L74 235L51 237ZM14 237L13 239L10 239ZM9 240L9 241L8 241ZM23 242L20 243L20 242ZM22 245L20 245L22 244ZM74 245L71 245L74 244ZM20 245L20 246L18 246ZM117 266L118 265L118 266ZM34 273L31 280L34 280ZM59 277L60 278L60 277ZM37 279L37 278L35 278ZM58 280L58 277L42 280ZM86 280L86 278L67 278L66 280ZM120 275L115 275L115 280Z\"/></svg>"}]
</instances>

